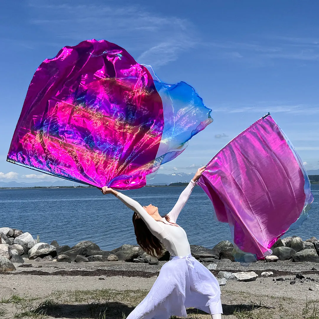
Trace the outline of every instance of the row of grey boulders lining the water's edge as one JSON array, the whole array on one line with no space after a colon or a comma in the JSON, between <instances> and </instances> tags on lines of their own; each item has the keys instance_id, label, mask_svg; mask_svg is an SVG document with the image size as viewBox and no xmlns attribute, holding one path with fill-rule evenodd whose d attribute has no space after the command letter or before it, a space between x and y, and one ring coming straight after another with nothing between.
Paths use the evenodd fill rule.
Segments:
<instances>
[{"instance_id":1,"label":"row of grey boulders lining the water's edge","mask_svg":"<svg viewBox=\"0 0 319 319\"><path fill-rule=\"evenodd\" d=\"M235 263L233 244L221 241L212 249L191 245L191 254L202 263L210 263L207 268L214 271L220 262ZM303 241L292 236L278 239L272 246L272 255L266 256L262 262L311 262L319 263L319 240L315 237ZM160 258L148 255L137 245L124 244L111 251L101 250L92 241L80 241L73 247L60 246L57 241L50 244L34 239L28 232L1 227L0 228L0 272L15 271L26 261L57 263L90 263L90 262L126 262L148 263L157 265L168 261L168 251ZM231 268L231 267L230 267Z\"/></svg>"}]
</instances>

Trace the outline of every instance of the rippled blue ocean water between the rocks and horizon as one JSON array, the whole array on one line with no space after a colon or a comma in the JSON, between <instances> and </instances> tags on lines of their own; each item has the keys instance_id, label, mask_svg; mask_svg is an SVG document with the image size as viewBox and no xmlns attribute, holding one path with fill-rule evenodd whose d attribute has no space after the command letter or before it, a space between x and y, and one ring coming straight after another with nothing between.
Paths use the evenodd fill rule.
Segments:
<instances>
[{"instance_id":1,"label":"rippled blue ocean water between the rocks and horizon","mask_svg":"<svg viewBox=\"0 0 319 319\"><path fill-rule=\"evenodd\" d=\"M142 205L159 207L163 216L174 206L182 187L145 187L125 191ZM319 185L312 185L314 203L308 219L286 236L319 239ZM0 189L0 227L29 232L50 243L73 246L91 240L101 249L136 244L132 211L113 195L102 195L96 188ZM213 207L204 191L195 187L183 208L178 224L193 245L212 248L231 240L227 224L215 221Z\"/></svg>"}]
</instances>

